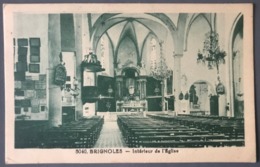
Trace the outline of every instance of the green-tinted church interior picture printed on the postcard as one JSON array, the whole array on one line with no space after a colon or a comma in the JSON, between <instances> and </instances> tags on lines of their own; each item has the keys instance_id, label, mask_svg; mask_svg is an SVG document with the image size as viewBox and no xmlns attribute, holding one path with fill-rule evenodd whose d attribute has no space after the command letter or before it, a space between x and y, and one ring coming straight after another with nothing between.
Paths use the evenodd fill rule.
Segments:
<instances>
[{"instance_id":1,"label":"green-tinted church interior picture printed on the postcard","mask_svg":"<svg viewBox=\"0 0 260 167\"><path fill-rule=\"evenodd\" d=\"M244 146L243 14L13 18L15 148Z\"/></svg>"}]
</instances>

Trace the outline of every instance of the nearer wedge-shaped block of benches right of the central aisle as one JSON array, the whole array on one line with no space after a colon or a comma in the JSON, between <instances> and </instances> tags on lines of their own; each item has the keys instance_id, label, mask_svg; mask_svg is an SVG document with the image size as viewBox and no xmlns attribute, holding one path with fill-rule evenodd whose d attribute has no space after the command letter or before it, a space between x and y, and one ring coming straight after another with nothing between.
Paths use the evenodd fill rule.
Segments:
<instances>
[{"instance_id":1,"label":"nearer wedge-shaped block of benches right of the central aisle","mask_svg":"<svg viewBox=\"0 0 260 167\"><path fill-rule=\"evenodd\" d=\"M117 121L128 147L180 148L244 145L243 139L231 139L225 133L190 127L178 119L165 121L151 117L125 115L118 116Z\"/></svg>"}]
</instances>

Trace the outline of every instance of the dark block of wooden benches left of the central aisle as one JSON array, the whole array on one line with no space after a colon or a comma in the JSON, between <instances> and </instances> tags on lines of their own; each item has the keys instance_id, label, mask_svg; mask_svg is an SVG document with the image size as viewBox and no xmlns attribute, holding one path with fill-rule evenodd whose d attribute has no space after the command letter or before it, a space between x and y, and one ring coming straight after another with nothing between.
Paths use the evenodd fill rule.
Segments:
<instances>
[{"instance_id":1,"label":"dark block of wooden benches left of the central aisle","mask_svg":"<svg viewBox=\"0 0 260 167\"><path fill-rule=\"evenodd\" d=\"M104 118L94 116L48 127L48 121L16 122L15 148L90 148L97 141Z\"/></svg>"}]
</instances>

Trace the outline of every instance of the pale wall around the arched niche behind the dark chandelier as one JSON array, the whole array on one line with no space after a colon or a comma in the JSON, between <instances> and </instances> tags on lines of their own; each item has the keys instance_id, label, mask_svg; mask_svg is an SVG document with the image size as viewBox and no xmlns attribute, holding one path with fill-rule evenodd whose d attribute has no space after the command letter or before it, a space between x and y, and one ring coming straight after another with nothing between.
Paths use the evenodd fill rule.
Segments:
<instances>
[{"instance_id":1,"label":"pale wall around the arched niche behind the dark chandelier","mask_svg":"<svg viewBox=\"0 0 260 167\"><path fill-rule=\"evenodd\" d=\"M181 60L181 76L185 77L185 83L181 83L181 92L185 95L189 93L189 89L191 85L195 82L206 82L209 86L207 89L208 98L204 98L204 101L201 102L199 99L199 109L195 109L191 107L188 100L181 100L181 112L189 113L190 111L204 110L206 114L209 113L209 101L210 96L216 95L215 87L218 84L218 74L217 68L213 66L212 69L208 68L207 62L205 64L203 62L197 62L197 54L198 51L203 51L203 43L205 40L205 34L210 31L210 26L206 22L206 20L199 16L192 24L191 29L188 34L188 43L187 43L187 51L184 52L182 60ZM221 46L221 45L220 45ZM219 77L223 82L222 78L225 78L225 73L223 73L223 65L220 65ZM183 81L182 81L183 82ZM177 97L178 98L178 97ZM200 98L200 97L199 97ZM220 106L225 105L225 99L220 98L219 104ZM222 104L223 103L223 104ZM202 106L208 106L206 108L201 108ZM223 109L219 107L219 114L223 113ZM188 110L188 111L187 111Z\"/></svg>"}]
</instances>

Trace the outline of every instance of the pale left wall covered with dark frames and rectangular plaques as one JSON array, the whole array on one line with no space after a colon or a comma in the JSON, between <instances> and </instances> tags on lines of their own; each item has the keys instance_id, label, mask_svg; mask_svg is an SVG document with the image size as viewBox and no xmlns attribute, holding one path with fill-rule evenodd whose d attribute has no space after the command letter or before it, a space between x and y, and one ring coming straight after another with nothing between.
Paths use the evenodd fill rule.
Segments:
<instances>
[{"instance_id":1,"label":"pale left wall covered with dark frames and rectangular plaques","mask_svg":"<svg viewBox=\"0 0 260 167\"><path fill-rule=\"evenodd\" d=\"M26 67L20 69L15 67L15 71L24 71L25 78L15 81L16 90L23 92L19 96L15 96L16 101L16 119L26 120L46 120L48 119L48 102L47 102L47 68L48 68L48 15L46 14L14 14L14 40L15 50L14 58L15 63L24 61ZM32 46L30 44L30 38L38 38L40 41L39 46ZM19 53L18 48L21 47L18 44L18 39L27 40L28 44L22 46L26 48L27 53ZM20 45L20 46L18 46ZM39 52L35 54L34 58L38 60L32 60L31 55L34 52L32 49L37 48ZM25 54L25 59L20 60L21 55ZM31 64L33 66L39 66L39 71L30 69ZM18 69L19 68L19 69ZM23 73L23 72L22 72ZM21 74L19 74L21 76ZM24 104L23 101L27 101ZM18 104L17 104L18 103ZM19 104L22 103L22 104ZM18 106L17 106L18 105Z\"/></svg>"}]
</instances>

